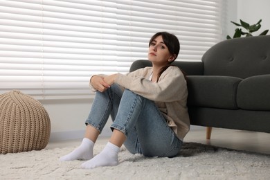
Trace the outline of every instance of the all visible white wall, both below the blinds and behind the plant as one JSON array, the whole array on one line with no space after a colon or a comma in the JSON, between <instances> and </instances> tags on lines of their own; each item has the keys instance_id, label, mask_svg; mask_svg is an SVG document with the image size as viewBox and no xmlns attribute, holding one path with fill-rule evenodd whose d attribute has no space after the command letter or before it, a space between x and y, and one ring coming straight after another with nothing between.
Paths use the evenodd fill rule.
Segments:
<instances>
[{"instance_id":1,"label":"all visible white wall, both below the blinds and behind the plant","mask_svg":"<svg viewBox=\"0 0 270 180\"><path fill-rule=\"evenodd\" d=\"M262 30L270 29L269 11L270 1L267 0L227 0L226 9L223 13L227 13L227 18L222 35L232 35L235 26L230 21L238 21L243 19L251 24L262 19ZM254 9L254 7L256 7ZM253 12L253 13L251 13ZM42 104L48 111L51 118L51 141L64 139L82 138L84 135L84 120L91 109L92 100L41 100ZM105 126L101 136L109 136L111 131L109 125L111 120ZM192 127L192 129L202 127Z\"/></svg>"}]
</instances>

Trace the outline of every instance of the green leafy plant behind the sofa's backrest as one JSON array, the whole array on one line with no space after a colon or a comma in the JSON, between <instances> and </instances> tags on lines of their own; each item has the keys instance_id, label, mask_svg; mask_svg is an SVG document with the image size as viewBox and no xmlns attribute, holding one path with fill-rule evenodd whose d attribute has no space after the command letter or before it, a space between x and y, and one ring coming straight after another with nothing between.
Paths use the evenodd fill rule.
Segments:
<instances>
[{"instance_id":1,"label":"green leafy plant behind the sofa's backrest","mask_svg":"<svg viewBox=\"0 0 270 180\"><path fill-rule=\"evenodd\" d=\"M243 27L247 31L247 32L243 32L242 28L235 28L235 34L233 35L233 38L241 37L242 35L246 35L246 37L253 36L252 33L260 29L261 21L262 19L260 19L258 23L253 24L253 25L249 25L248 23L246 23L245 21L242 21L241 19L240 19L240 24L237 24L231 21L231 23L235 24L236 26ZM267 33L268 33L268 30L264 30L262 33L260 33L260 35L267 35ZM227 39L231 39L231 37L227 35Z\"/></svg>"}]
</instances>

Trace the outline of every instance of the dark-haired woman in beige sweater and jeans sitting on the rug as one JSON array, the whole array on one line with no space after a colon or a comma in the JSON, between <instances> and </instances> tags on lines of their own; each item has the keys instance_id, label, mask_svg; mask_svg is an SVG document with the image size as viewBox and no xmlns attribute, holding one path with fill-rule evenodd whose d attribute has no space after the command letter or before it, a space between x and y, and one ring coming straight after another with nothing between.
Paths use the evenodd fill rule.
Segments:
<instances>
[{"instance_id":1,"label":"dark-haired woman in beige sweater and jeans sitting on the rug","mask_svg":"<svg viewBox=\"0 0 270 180\"><path fill-rule=\"evenodd\" d=\"M152 67L126 75L93 75L90 87L96 97L85 136L81 145L60 161L89 160L82 164L88 169L118 165L123 144L132 154L176 156L190 127L186 80L177 66L170 66L179 49L175 35L156 33L149 42ZM113 132L105 149L93 156L93 145L109 115Z\"/></svg>"}]
</instances>

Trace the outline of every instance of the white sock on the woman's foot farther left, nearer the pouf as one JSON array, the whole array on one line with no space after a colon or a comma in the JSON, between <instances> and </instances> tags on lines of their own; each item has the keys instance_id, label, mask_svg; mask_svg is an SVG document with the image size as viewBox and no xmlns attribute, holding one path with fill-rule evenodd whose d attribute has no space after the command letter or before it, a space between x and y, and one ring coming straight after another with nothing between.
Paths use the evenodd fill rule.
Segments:
<instances>
[{"instance_id":1,"label":"white sock on the woman's foot farther left, nearer the pouf","mask_svg":"<svg viewBox=\"0 0 270 180\"><path fill-rule=\"evenodd\" d=\"M93 158L93 141L89 138L83 138L82 143L73 152L60 157L60 161L89 160Z\"/></svg>"}]
</instances>

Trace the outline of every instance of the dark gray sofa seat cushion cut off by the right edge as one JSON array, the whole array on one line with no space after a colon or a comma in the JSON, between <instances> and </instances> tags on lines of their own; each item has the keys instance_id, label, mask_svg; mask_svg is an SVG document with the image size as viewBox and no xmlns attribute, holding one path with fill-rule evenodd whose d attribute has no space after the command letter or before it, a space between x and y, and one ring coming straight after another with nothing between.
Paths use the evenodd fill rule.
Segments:
<instances>
[{"instance_id":1,"label":"dark gray sofa seat cushion cut off by the right edge","mask_svg":"<svg viewBox=\"0 0 270 180\"><path fill-rule=\"evenodd\" d=\"M255 75L240 82L237 105L246 110L270 110L270 75Z\"/></svg>"}]
</instances>

